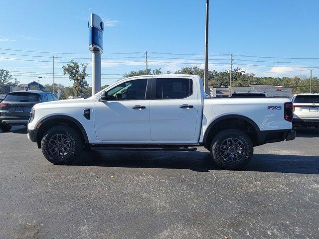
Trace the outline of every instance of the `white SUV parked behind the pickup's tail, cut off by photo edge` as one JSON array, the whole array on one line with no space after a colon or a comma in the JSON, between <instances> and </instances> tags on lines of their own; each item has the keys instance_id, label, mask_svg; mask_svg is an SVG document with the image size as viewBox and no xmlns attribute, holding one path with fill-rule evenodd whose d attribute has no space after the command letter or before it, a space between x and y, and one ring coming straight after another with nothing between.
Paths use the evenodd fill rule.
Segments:
<instances>
[{"instance_id":1,"label":"white SUV parked behind the pickup's tail, cut off by photo edge","mask_svg":"<svg viewBox=\"0 0 319 239\"><path fill-rule=\"evenodd\" d=\"M294 127L319 128L319 94L294 95Z\"/></svg>"}]
</instances>

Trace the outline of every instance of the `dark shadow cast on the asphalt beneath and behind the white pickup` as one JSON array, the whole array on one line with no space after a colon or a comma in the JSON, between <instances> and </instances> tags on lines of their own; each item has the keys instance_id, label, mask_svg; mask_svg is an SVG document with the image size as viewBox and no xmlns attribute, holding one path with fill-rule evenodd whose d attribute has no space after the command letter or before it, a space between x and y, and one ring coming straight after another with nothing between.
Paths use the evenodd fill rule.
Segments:
<instances>
[{"instance_id":1,"label":"dark shadow cast on the asphalt beneath and behind the white pickup","mask_svg":"<svg viewBox=\"0 0 319 239\"><path fill-rule=\"evenodd\" d=\"M176 168L197 172L220 170L208 152L89 151L74 162L76 166ZM240 171L319 174L319 157L254 154Z\"/></svg>"}]
</instances>

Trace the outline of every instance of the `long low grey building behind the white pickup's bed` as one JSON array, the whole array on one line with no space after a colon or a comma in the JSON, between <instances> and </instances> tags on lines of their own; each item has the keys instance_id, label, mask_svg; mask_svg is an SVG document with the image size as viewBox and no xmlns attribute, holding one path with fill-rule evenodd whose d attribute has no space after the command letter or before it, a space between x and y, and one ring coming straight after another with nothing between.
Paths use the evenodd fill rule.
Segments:
<instances>
[{"instance_id":1,"label":"long low grey building behind the white pickup's bed","mask_svg":"<svg viewBox=\"0 0 319 239\"><path fill-rule=\"evenodd\" d=\"M233 86L231 93L234 92L266 92L268 96L292 97L292 87L272 86L272 85L250 85L250 86ZM210 97L229 97L229 87L210 87Z\"/></svg>"}]
</instances>

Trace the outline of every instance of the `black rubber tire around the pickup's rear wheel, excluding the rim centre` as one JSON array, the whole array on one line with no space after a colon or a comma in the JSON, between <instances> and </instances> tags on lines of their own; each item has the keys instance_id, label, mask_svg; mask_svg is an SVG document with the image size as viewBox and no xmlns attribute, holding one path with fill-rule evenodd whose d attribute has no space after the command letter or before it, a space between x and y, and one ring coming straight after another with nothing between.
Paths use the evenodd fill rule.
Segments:
<instances>
[{"instance_id":1,"label":"black rubber tire around the pickup's rear wheel, excluding the rim centre","mask_svg":"<svg viewBox=\"0 0 319 239\"><path fill-rule=\"evenodd\" d=\"M245 152L243 153L243 156L238 161L234 161L234 162L226 161L225 158L223 158L223 155L221 154L221 152L223 152L221 151L221 147L223 143L229 138L239 139L243 144L242 149ZM241 152L241 150L239 150L239 152ZM218 167L223 169L236 170L246 166L249 163L249 161L252 159L253 153L254 153L254 147L253 147L253 143L251 139L248 137L247 134L245 134L243 131L240 131L238 129L225 129L220 131L213 138L210 145L210 154L211 154L212 160L217 164ZM227 155L228 154L226 154L226 156ZM231 160L231 159L232 158L229 158L228 160Z\"/></svg>"}]
</instances>

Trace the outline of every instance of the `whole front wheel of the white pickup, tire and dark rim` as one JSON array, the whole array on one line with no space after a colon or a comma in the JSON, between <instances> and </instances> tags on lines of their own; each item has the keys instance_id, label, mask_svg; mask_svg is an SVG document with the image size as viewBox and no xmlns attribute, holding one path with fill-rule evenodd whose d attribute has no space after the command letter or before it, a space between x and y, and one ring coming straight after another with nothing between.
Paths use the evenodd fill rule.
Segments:
<instances>
[{"instance_id":1,"label":"whole front wheel of the white pickup, tire and dark rim","mask_svg":"<svg viewBox=\"0 0 319 239\"><path fill-rule=\"evenodd\" d=\"M72 127L59 125L45 132L41 140L44 157L53 164L66 165L78 159L83 142Z\"/></svg>"}]
</instances>

